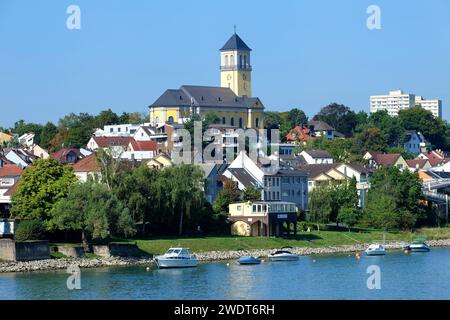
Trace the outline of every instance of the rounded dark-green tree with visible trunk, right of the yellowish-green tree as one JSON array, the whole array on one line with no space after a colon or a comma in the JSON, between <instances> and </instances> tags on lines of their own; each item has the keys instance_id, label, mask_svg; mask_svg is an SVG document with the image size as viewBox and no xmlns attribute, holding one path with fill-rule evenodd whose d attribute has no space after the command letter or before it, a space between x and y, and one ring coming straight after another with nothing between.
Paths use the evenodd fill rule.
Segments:
<instances>
[{"instance_id":1,"label":"rounded dark-green tree with visible trunk, right of the yellowish-green tree","mask_svg":"<svg viewBox=\"0 0 450 320\"><path fill-rule=\"evenodd\" d=\"M60 230L81 231L86 252L89 238L130 237L136 232L128 208L105 185L92 180L71 187L56 204L52 224Z\"/></svg>"}]
</instances>

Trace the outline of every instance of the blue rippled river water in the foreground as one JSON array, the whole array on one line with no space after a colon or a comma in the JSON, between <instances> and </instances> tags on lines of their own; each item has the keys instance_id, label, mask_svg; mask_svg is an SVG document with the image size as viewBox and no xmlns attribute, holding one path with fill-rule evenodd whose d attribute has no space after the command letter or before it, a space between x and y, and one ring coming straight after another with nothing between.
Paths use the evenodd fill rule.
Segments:
<instances>
[{"instance_id":1,"label":"blue rippled river water in the foreground","mask_svg":"<svg viewBox=\"0 0 450 320\"><path fill-rule=\"evenodd\" d=\"M369 289L369 266L381 289ZM146 272L146 266L82 269L81 289L65 271L0 274L0 299L450 299L450 248L386 256L308 256L296 262Z\"/></svg>"}]
</instances>

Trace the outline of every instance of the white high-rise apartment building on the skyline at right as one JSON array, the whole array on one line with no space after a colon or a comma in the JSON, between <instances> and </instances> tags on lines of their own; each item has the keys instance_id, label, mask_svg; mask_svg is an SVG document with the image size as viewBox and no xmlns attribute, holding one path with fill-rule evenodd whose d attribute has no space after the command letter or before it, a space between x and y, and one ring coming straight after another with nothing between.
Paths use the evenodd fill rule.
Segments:
<instances>
[{"instance_id":1,"label":"white high-rise apartment building on the skyline at right","mask_svg":"<svg viewBox=\"0 0 450 320\"><path fill-rule=\"evenodd\" d=\"M386 110L390 116L397 116L400 110L412 108L416 105L431 111L435 117L442 118L441 100L426 100L421 96L405 93L402 90L390 91L388 95L370 97L371 113Z\"/></svg>"}]
</instances>

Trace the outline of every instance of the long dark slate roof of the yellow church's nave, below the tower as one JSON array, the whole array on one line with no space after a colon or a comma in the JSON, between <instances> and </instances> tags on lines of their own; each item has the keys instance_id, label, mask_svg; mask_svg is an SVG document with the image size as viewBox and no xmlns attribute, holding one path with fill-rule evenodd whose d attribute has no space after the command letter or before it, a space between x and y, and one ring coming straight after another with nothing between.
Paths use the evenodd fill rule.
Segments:
<instances>
[{"instance_id":1,"label":"long dark slate roof of the yellow church's nave, below the tower","mask_svg":"<svg viewBox=\"0 0 450 320\"><path fill-rule=\"evenodd\" d=\"M251 108L258 98L239 97L230 88L207 86L181 86L166 90L150 107L225 107ZM260 102L258 102L260 103ZM261 104L261 107L263 105Z\"/></svg>"}]
</instances>

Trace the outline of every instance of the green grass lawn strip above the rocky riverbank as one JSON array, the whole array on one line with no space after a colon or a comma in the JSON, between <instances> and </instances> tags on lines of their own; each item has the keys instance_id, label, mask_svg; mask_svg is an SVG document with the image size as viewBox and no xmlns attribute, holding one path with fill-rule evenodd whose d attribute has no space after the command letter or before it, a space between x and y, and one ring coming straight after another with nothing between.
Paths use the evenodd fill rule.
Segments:
<instances>
[{"instance_id":1,"label":"green grass lawn strip above the rocky riverbank","mask_svg":"<svg viewBox=\"0 0 450 320\"><path fill-rule=\"evenodd\" d=\"M424 228L414 233L388 232L386 240L412 241L423 237L432 239L450 239L450 228ZM292 247L323 247L337 245L351 245L357 243L370 243L383 240L383 231L367 230L364 233L346 231L313 231L302 232L298 239L281 239L266 237L158 237L151 239L114 240L114 243L136 243L143 252L148 254L162 254L169 247L187 247L191 252L202 251L228 251L250 249L276 249L283 246ZM71 244L74 245L74 244Z\"/></svg>"}]
</instances>

